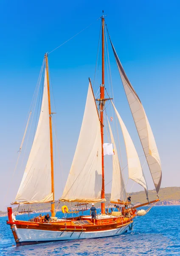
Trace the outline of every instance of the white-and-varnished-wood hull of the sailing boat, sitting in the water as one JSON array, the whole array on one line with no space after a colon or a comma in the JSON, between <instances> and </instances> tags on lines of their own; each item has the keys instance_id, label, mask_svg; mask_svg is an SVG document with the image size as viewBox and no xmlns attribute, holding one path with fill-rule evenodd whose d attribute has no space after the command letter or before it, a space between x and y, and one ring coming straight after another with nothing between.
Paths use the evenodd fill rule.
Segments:
<instances>
[{"instance_id":1,"label":"white-and-varnished-wood hull of the sailing boat, sitting in the water","mask_svg":"<svg viewBox=\"0 0 180 256\"><path fill-rule=\"evenodd\" d=\"M9 216L9 214L8 214ZM66 219L51 223L16 221L9 216L9 221L17 246L47 243L74 239L101 238L121 235L129 229L135 215L130 218L108 217L96 219L96 225L90 216Z\"/></svg>"}]
</instances>

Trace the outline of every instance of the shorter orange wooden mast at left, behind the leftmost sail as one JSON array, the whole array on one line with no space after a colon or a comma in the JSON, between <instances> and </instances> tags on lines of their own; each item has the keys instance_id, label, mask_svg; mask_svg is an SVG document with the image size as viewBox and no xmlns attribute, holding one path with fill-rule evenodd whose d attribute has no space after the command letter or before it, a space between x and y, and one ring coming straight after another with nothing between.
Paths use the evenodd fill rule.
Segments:
<instances>
[{"instance_id":1,"label":"shorter orange wooden mast at left, behind the leftmost sail","mask_svg":"<svg viewBox=\"0 0 180 256\"><path fill-rule=\"evenodd\" d=\"M50 128L50 149L51 149L51 192L53 193L53 201L51 202L51 216L55 216L54 212L54 166L53 166L53 136L52 136L52 123L51 123L51 101L49 89L49 69L48 69L48 54L45 53L45 66L48 83L48 105L49 105L49 128Z\"/></svg>"}]
</instances>

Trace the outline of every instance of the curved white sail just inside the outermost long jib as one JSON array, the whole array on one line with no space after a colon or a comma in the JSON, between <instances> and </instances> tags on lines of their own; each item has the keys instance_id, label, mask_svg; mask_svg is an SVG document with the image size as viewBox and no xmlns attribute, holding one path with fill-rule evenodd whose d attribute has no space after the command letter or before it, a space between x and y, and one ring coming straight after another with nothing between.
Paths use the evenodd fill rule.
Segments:
<instances>
[{"instance_id":1,"label":"curved white sail just inside the outermost long jib","mask_svg":"<svg viewBox=\"0 0 180 256\"><path fill-rule=\"evenodd\" d=\"M113 102L112 102L113 104ZM126 152L127 152L127 163L128 163L128 172L129 172L129 178L134 180L135 182L139 183L146 191L147 195L147 184L145 177L143 175L143 171L141 168L141 163L138 157L138 153L135 149L135 146L132 142L132 139L129 135L129 132L127 131L126 126L124 125L123 120L121 119L121 116L119 115L117 109L115 108L115 105L113 104L113 108L115 110L115 113L118 117L119 123L121 125L121 130L124 137L124 143L126 146Z\"/></svg>"}]
</instances>

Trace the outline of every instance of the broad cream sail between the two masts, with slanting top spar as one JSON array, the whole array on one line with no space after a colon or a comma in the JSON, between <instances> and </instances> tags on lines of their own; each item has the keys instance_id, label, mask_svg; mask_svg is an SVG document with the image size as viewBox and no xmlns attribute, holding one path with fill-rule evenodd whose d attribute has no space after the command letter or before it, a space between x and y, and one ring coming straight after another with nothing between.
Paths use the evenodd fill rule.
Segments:
<instances>
[{"instance_id":1,"label":"broad cream sail between the two masts, with slanting top spar","mask_svg":"<svg viewBox=\"0 0 180 256\"><path fill-rule=\"evenodd\" d=\"M89 84L79 140L61 201L98 202L102 188L101 125Z\"/></svg>"}]
</instances>

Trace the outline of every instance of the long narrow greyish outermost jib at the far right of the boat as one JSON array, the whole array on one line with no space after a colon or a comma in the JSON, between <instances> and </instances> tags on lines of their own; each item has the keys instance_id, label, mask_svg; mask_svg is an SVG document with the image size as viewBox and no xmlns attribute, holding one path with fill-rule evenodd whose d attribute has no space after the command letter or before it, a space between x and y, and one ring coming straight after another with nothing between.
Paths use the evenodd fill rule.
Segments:
<instances>
[{"instance_id":1,"label":"long narrow greyish outermost jib at the far right of the boat","mask_svg":"<svg viewBox=\"0 0 180 256\"><path fill-rule=\"evenodd\" d=\"M127 100L129 102L129 107L131 109L132 116L141 140L143 151L146 156L147 163L149 165L149 169L152 175L153 182L155 184L156 191L158 193L162 180L162 172L160 157L158 153L158 148L155 143L155 138L153 136L152 129L149 125L146 113L143 109L143 105L134 88L132 87L131 83L129 82L126 73L124 72L124 69L121 65L117 53L115 52L113 44L112 47L115 55L115 60L118 65L121 80L124 86L124 90L127 96Z\"/></svg>"}]
</instances>

